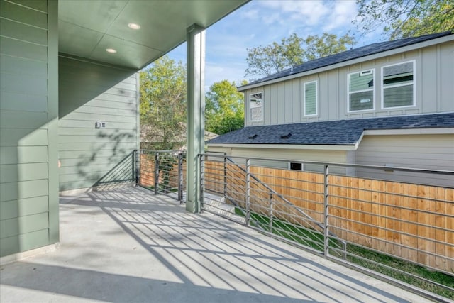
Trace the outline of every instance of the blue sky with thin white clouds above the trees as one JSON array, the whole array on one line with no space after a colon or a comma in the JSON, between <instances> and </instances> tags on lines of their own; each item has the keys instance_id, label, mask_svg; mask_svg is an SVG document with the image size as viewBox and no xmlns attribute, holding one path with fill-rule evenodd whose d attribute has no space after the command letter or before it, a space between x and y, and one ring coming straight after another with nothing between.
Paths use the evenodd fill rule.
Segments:
<instances>
[{"instance_id":1,"label":"blue sky with thin white clouds above the trees","mask_svg":"<svg viewBox=\"0 0 454 303\"><path fill-rule=\"evenodd\" d=\"M239 84L248 67L248 48L269 45L297 33L355 35L354 48L382 40L381 31L360 37L352 21L357 15L355 0L253 0L206 29L205 90L227 79ZM186 43L167 54L186 62Z\"/></svg>"}]
</instances>

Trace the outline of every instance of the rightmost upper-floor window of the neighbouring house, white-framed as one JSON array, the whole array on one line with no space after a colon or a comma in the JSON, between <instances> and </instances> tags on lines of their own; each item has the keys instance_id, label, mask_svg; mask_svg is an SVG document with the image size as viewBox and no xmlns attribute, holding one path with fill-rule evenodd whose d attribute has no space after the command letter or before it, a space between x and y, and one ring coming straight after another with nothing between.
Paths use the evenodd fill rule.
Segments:
<instances>
[{"instance_id":1,"label":"rightmost upper-floor window of the neighbouring house, white-framed","mask_svg":"<svg viewBox=\"0 0 454 303\"><path fill-rule=\"evenodd\" d=\"M414 61L382 67L382 107L414 106Z\"/></svg>"}]
</instances>

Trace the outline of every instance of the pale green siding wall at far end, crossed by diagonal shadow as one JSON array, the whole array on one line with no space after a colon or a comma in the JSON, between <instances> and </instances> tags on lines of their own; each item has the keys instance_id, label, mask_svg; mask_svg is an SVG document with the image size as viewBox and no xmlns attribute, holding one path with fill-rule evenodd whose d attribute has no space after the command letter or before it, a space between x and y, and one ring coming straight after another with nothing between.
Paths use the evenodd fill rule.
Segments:
<instances>
[{"instance_id":1,"label":"pale green siding wall at far end, crossed by diagonal shadow","mask_svg":"<svg viewBox=\"0 0 454 303\"><path fill-rule=\"evenodd\" d=\"M138 148L138 74L77 60L59 60L60 191L132 180ZM96 121L106 123L95 128Z\"/></svg>"}]
</instances>

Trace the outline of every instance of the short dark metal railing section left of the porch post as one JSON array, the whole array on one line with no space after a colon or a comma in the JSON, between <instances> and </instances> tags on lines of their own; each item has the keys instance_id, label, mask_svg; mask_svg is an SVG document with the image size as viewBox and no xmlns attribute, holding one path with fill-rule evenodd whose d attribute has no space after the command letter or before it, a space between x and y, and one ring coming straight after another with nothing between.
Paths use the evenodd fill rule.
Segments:
<instances>
[{"instance_id":1,"label":"short dark metal railing section left of the porch post","mask_svg":"<svg viewBox=\"0 0 454 303\"><path fill-rule=\"evenodd\" d=\"M135 184L185 201L186 154L179 150L135 150Z\"/></svg>"}]
</instances>

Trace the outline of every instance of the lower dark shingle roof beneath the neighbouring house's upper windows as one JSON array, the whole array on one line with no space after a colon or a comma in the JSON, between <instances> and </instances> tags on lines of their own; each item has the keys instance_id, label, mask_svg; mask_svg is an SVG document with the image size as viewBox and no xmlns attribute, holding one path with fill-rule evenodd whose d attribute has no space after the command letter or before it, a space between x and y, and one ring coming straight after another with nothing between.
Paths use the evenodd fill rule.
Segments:
<instances>
[{"instance_id":1,"label":"lower dark shingle roof beneath the neighbouring house's upper windows","mask_svg":"<svg viewBox=\"0 0 454 303\"><path fill-rule=\"evenodd\" d=\"M454 127L454 113L248 126L206 143L355 145L366 130L448 127Z\"/></svg>"}]
</instances>

